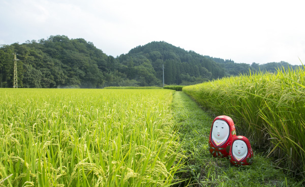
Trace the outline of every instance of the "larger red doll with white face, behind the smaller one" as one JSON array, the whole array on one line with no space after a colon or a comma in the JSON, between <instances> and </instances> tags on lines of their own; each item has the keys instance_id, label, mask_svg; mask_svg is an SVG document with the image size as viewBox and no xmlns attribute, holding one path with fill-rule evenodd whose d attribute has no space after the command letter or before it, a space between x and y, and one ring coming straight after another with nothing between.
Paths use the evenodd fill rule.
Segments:
<instances>
[{"instance_id":1,"label":"larger red doll with white face, behind the smaller one","mask_svg":"<svg viewBox=\"0 0 305 187\"><path fill-rule=\"evenodd\" d=\"M236 136L234 122L226 115L214 119L209 136L209 151L214 157L227 157Z\"/></svg>"}]
</instances>

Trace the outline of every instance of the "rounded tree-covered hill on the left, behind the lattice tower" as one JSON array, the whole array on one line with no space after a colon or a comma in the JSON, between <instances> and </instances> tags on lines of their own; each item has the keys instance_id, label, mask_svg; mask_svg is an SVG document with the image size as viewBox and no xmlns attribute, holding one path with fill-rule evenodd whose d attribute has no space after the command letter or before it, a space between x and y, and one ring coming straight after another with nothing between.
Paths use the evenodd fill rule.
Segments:
<instances>
[{"instance_id":1,"label":"rounded tree-covered hill on the left, behind the lattice tower","mask_svg":"<svg viewBox=\"0 0 305 187\"><path fill-rule=\"evenodd\" d=\"M2 87L12 86L12 55L17 52L21 87L100 88L112 83L107 67L116 60L83 39L50 36L47 40L12 44L0 49ZM115 80L119 75L114 75ZM124 76L120 81L125 80ZM19 84L20 82L20 84Z\"/></svg>"}]
</instances>

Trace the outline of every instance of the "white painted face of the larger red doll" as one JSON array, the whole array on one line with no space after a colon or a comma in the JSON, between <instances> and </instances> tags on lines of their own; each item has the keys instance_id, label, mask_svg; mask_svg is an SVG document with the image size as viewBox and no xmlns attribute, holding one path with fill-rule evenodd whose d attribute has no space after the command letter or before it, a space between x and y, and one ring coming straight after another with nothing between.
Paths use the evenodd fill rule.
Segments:
<instances>
[{"instance_id":1,"label":"white painted face of the larger red doll","mask_svg":"<svg viewBox=\"0 0 305 187\"><path fill-rule=\"evenodd\" d=\"M230 133L229 125L226 121L216 120L213 124L212 138L216 140L227 140Z\"/></svg>"}]
</instances>

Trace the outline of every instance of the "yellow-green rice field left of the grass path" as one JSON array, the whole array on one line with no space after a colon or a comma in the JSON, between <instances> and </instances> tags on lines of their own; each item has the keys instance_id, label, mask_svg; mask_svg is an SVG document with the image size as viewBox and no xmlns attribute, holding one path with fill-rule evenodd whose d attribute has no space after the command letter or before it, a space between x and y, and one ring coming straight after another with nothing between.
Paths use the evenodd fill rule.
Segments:
<instances>
[{"instance_id":1,"label":"yellow-green rice field left of the grass path","mask_svg":"<svg viewBox=\"0 0 305 187\"><path fill-rule=\"evenodd\" d=\"M166 186L181 167L171 90L0 89L0 98L1 186Z\"/></svg>"}]
</instances>

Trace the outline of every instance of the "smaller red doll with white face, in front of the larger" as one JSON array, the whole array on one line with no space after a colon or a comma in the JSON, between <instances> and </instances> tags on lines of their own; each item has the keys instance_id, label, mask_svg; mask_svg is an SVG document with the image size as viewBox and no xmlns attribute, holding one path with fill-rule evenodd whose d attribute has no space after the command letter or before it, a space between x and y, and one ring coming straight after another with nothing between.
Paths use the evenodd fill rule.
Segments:
<instances>
[{"instance_id":1,"label":"smaller red doll with white face, in front of the larger","mask_svg":"<svg viewBox=\"0 0 305 187\"><path fill-rule=\"evenodd\" d=\"M230 162L234 166L246 166L253 163L253 151L248 138L236 136L230 148Z\"/></svg>"}]
</instances>

